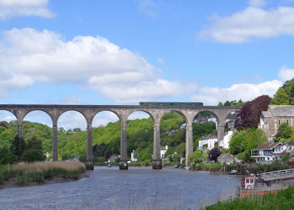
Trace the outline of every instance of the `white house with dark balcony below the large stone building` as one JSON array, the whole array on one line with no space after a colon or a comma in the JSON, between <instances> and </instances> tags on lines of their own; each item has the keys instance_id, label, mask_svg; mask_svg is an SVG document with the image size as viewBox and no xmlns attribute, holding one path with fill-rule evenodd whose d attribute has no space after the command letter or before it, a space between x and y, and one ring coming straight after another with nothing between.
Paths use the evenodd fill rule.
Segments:
<instances>
[{"instance_id":1,"label":"white house with dark balcony below the large stone building","mask_svg":"<svg viewBox=\"0 0 294 210\"><path fill-rule=\"evenodd\" d=\"M282 148L282 143L281 142L267 142L264 144L260 144L257 148L253 149L251 151L251 158L256 158L256 162L261 162L261 163L270 163L274 161L274 152L275 148L280 148L276 149L275 154L278 155L281 153L281 148Z\"/></svg>"}]
</instances>

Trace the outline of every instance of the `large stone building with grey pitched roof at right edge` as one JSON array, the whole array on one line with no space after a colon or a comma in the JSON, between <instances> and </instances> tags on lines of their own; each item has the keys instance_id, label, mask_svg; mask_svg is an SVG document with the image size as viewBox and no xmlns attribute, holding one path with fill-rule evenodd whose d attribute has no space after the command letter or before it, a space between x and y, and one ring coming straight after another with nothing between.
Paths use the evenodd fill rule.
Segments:
<instances>
[{"instance_id":1,"label":"large stone building with grey pitched roof at right edge","mask_svg":"<svg viewBox=\"0 0 294 210\"><path fill-rule=\"evenodd\" d=\"M258 128L267 134L269 140L272 140L282 123L288 123L293 127L294 105L269 105L267 111L262 111L260 114Z\"/></svg>"}]
</instances>

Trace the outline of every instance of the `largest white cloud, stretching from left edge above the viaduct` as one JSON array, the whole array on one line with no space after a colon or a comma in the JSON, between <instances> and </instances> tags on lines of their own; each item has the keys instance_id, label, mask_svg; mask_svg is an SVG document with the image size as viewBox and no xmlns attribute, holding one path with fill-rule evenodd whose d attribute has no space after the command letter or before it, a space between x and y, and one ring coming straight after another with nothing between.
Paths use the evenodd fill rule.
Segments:
<instances>
[{"instance_id":1,"label":"largest white cloud, stretching from left edge above the viaduct","mask_svg":"<svg viewBox=\"0 0 294 210\"><path fill-rule=\"evenodd\" d=\"M155 76L144 57L100 36L64 41L53 31L12 29L0 41L0 94L36 82L78 83L118 103L184 94L183 84ZM193 85L195 87L195 85Z\"/></svg>"}]
</instances>

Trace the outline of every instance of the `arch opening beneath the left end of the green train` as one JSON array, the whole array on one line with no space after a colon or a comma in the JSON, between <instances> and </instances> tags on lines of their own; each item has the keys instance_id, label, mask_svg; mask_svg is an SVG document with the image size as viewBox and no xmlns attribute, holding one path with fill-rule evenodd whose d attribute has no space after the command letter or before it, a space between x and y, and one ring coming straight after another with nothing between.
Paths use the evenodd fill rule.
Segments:
<instances>
[{"instance_id":1,"label":"arch opening beneath the left end of the green train","mask_svg":"<svg viewBox=\"0 0 294 210\"><path fill-rule=\"evenodd\" d=\"M151 162L154 120L146 111L134 111L127 118L127 156L132 162Z\"/></svg>"}]
</instances>

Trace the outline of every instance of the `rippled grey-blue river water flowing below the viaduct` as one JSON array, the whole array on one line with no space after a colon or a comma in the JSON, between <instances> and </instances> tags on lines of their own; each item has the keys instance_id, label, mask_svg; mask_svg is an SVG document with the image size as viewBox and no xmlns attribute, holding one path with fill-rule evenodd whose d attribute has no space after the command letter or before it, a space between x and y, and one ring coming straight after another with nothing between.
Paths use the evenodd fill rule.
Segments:
<instances>
[{"instance_id":1,"label":"rippled grey-blue river water flowing below the viaduct","mask_svg":"<svg viewBox=\"0 0 294 210\"><path fill-rule=\"evenodd\" d=\"M4 188L0 209L199 209L235 195L240 176L94 167L78 181Z\"/></svg>"}]
</instances>

